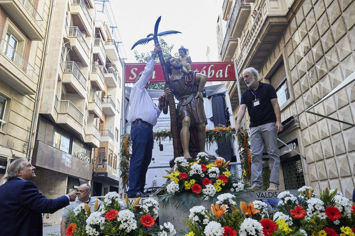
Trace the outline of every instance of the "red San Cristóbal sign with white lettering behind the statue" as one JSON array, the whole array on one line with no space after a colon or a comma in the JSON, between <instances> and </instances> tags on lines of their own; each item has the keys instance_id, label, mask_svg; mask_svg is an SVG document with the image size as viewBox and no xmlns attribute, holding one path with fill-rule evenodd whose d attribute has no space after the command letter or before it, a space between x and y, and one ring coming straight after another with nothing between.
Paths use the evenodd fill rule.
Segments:
<instances>
[{"instance_id":1,"label":"red San Crist\u00f3bal sign with white lettering behind the statue","mask_svg":"<svg viewBox=\"0 0 355 236\"><path fill-rule=\"evenodd\" d=\"M146 63L127 63L125 72L126 83L134 83L137 75L144 70ZM233 62L193 62L192 68L198 73L208 76L207 81L236 80ZM155 63L151 82L164 82L162 65Z\"/></svg>"}]
</instances>

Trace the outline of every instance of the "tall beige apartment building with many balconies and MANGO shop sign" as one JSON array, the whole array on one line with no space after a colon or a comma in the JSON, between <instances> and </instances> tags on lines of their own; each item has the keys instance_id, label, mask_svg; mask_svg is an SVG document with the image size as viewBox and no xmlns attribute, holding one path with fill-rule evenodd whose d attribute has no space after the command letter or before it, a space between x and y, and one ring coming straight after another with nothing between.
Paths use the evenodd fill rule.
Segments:
<instances>
[{"instance_id":1,"label":"tall beige apartment building with many balconies and MANGO shop sign","mask_svg":"<svg viewBox=\"0 0 355 236\"><path fill-rule=\"evenodd\" d=\"M94 0L57 0L35 117L33 182L55 198L88 183L118 191L121 65ZM44 222L59 223L61 211Z\"/></svg>"}]
</instances>

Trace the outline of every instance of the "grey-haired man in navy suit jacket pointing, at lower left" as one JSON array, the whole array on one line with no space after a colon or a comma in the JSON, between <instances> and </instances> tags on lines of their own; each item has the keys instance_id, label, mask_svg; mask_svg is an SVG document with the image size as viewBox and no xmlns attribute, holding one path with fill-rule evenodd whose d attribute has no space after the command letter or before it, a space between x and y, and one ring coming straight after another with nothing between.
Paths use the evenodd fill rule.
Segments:
<instances>
[{"instance_id":1,"label":"grey-haired man in navy suit jacket pointing, at lower left","mask_svg":"<svg viewBox=\"0 0 355 236\"><path fill-rule=\"evenodd\" d=\"M13 161L0 186L0 235L42 236L42 212L53 214L74 201L79 192L56 199L41 195L31 181L35 167L26 159Z\"/></svg>"}]
</instances>

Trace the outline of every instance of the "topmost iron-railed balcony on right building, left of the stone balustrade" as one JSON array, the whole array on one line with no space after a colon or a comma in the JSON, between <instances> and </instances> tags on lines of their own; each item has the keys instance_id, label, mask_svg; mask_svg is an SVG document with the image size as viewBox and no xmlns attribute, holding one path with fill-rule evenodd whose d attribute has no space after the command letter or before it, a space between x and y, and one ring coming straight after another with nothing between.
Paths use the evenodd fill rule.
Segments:
<instances>
[{"instance_id":1,"label":"topmost iron-railed balcony on right building, left of the stone balustrade","mask_svg":"<svg viewBox=\"0 0 355 236\"><path fill-rule=\"evenodd\" d=\"M232 13L229 19L229 26L231 28L230 34L234 39L240 38L244 26L249 19L251 6L249 3L241 4L240 1L235 1Z\"/></svg>"}]
</instances>

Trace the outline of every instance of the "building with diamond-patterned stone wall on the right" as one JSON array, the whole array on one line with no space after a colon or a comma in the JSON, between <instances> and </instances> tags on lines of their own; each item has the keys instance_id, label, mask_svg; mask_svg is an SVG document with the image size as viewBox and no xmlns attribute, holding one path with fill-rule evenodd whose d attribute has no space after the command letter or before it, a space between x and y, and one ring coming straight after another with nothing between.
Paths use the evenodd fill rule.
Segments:
<instances>
[{"instance_id":1,"label":"building with diamond-patterned stone wall on the right","mask_svg":"<svg viewBox=\"0 0 355 236\"><path fill-rule=\"evenodd\" d=\"M355 83L313 109L335 120L305 110L355 70L354 13L351 0L223 2L217 22L225 24L217 27L217 37L224 35L219 57L237 65L240 82L226 82L235 117L239 96L247 88L242 79L245 68L258 69L261 82L273 85L278 94L284 125L279 139L293 146L278 143L280 189L306 184L317 192L330 186L352 196L355 129L338 120L355 123ZM248 128L247 113L244 120Z\"/></svg>"}]
</instances>

